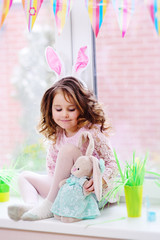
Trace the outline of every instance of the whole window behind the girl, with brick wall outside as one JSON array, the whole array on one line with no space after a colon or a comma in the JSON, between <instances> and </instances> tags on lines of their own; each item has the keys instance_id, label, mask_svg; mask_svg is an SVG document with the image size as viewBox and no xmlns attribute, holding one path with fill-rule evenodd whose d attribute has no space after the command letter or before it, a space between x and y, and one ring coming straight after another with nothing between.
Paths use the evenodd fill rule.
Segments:
<instances>
[{"instance_id":1,"label":"whole window behind the girl, with brick wall outside","mask_svg":"<svg viewBox=\"0 0 160 240\"><path fill-rule=\"evenodd\" d=\"M15 2L0 30L0 166L18 157L27 169L45 169L36 125L41 97L54 74L45 63L44 50L54 45L71 71L79 47L87 44L90 65L82 77L111 119L113 148L121 161L131 158L134 150L140 157L149 151L148 169L158 171L160 40L147 8L141 4L136 9L124 38L111 3L97 39L82 1L74 1L60 36L54 24L46 0L29 33L21 2Z\"/></svg>"}]
</instances>

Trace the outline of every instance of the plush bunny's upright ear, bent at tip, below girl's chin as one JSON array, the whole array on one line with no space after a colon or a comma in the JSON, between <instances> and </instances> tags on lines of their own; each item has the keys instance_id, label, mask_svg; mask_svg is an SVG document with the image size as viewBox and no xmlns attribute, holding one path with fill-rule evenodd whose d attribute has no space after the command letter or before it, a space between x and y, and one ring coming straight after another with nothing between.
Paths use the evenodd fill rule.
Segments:
<instances>
[{"instance_id":1,"label":"plush bunny's upright ear, bent at tip, below girl's chin","mask_svg":"<svg viewBox=\"0 0 160 240\"><path fill-rule=\"evenodd\" d=\"M81 149L83 144L89 140L89 144L86 150L86 156L92 156L93 151L94 151L94 140L92 137L92 134L90 132L83 132L80 136L78 147Z\"/></svg>"}]
</instances>

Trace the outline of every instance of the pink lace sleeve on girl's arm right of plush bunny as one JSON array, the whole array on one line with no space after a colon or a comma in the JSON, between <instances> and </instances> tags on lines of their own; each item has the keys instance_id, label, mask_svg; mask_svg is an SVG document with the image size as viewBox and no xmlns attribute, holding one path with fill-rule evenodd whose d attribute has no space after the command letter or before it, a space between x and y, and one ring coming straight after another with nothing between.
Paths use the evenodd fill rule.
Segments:
<instances>
[{"instance_id":1,"label":"pink lace sleeve on girl's arm right of plush bunny","mask_svg":"<svg viewBox=\"0 0 160 240\"><path fill-rule=\"evenodd\" d=\"M105 170L103 172L103 195L107 194L114 186L115 177L118 175L118 167L110 146L108 138L98 129L92 131L92 136L95 142L94 155L105 162ZM111 200L115 202L116 200Z\"/></svg>"}]
</instances>

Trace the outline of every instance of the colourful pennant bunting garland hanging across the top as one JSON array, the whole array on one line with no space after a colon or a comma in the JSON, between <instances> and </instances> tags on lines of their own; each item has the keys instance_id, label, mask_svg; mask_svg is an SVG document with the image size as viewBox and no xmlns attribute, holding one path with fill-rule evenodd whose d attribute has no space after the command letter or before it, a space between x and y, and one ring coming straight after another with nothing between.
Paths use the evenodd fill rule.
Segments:
<instances>
[{"instance_id":1,"label":"colourful pennant bunting garland hanging across the top","mask_svg":"<svg viewBox=\"0 0 160 240\"><path fill-rule=\"evenodd\" d=\"M109 3L113 5L122 37L125 36L136 5L140 0L80 0L87 9L95 36L98 36ZM160 0L143 0L160 35ZM12 6L13 0L0 0L0 28ZM22 0L29 31L32 30L43 0ZM51 0L58 34L62 33L74 0Z\"/></svg>"}]
</instances>

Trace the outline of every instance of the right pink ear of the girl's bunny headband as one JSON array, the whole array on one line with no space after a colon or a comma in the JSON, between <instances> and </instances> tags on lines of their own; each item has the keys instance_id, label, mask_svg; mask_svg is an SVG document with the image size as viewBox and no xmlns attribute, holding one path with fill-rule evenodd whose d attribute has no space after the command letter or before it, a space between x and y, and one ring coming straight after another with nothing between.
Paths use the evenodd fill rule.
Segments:
<instances>
[{"instance_id":1,"label":"right pink ear of the girl's bunny headband","mask_svg":"<svg viewBox=\"0 0 160 240\"><path fill-rule=\"evenodd\" d=\"M84 70L89 63L89 58L85 53L86 50L87 50L87 46L84 46L84 47L81 47L78 51L77 60L76 60L76 63L74 65L74 71L76 73L80 70Z\"/></svg>"}]
</instances>

